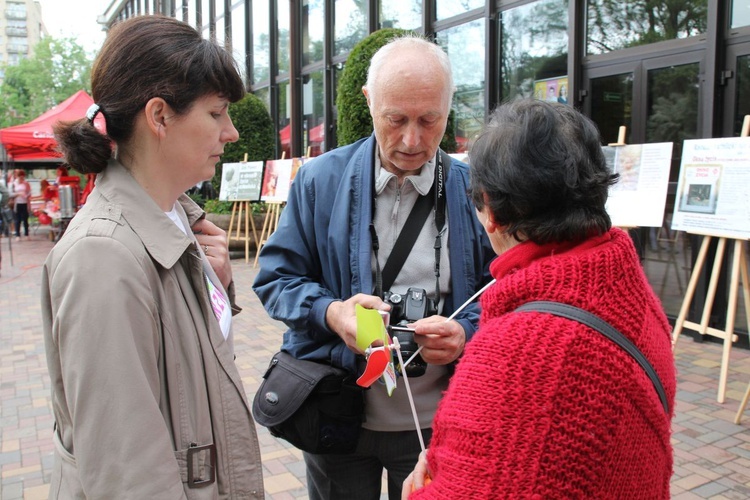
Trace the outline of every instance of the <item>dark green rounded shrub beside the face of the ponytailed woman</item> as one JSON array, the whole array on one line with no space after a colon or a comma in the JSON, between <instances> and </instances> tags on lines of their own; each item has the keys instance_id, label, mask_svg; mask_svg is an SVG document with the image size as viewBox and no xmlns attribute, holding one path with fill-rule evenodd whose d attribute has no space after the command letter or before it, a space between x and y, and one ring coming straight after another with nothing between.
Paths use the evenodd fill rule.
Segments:
<instances>
[{"instance_id":1,"label":"dark green rounded shrub beside the face of the ponytailed woman","mask_svg":"<svg viewBox=\"0 0 750 500\"><path fill-rule=\"evenodd\" d=\"M223 163L237 163L247 161L272 160L276 155L276 131L273 120L266 109L265 103L254 94L247 94L241 100L229 105L229 116L240 134L237 142L224 146ZM221 188L222 166L216 169L211 179L216 192ZM210 210L206 210L207 212ZM231 211L231 204L230 204Z\"/></svg>"}]
</instances>

